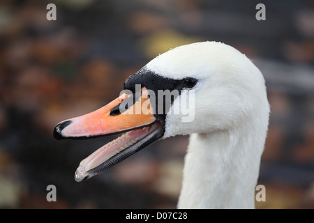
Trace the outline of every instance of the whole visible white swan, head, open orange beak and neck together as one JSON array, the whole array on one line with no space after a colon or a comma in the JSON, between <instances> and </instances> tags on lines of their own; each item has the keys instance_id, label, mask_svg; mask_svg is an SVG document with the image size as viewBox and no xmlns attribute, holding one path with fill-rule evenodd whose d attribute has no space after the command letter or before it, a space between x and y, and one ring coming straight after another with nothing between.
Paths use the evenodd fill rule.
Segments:
<instances>
[{"instance_id":1,"label":"whole visible white swan, head, open orange beak and neck together","mask_svg":"<svg viewBox=\"0 0 314 223\"><path fill-rule=\"evenodd\" d=\"M140 96L133 97L136 84ZM216 42L177 47L128 77L124 89L130 91L105 107L54 128L55 139L126 132L82 160L75 180L99 174L157 139L190 134L178 208L255 208L269 103L262 73L244 54ZM151 97L158 90L179 95L167 107L165 97ZM194 116L183 121L173 108L192 93L187 107Z\"/></svg>"}]
</instances>

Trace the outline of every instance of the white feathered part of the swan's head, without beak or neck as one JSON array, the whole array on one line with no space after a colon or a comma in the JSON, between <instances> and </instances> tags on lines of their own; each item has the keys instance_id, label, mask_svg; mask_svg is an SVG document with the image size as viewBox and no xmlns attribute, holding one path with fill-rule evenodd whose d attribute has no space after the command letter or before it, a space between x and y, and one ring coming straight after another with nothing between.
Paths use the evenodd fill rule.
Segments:
<instances>
[{"instance_id":1,"label":"white feathered part of the swan's head, without beak or neck","mask_svg":"<svg viewBox=\"0 0 314 223\"><path fill-rule=\"evenodd\" d=\"M216 42L184 45L150 61L146 70L169 79L192 78L165 117L165 134L209 133L242 125L247 118L268 118L264 77L237 49ZM173 111L179 108L179 112ZM259 111L264 109L264 111ZM264 121L264 120L263 120ZM264 121L268 123L267 121Z\"/></svg>"}]
</instances>

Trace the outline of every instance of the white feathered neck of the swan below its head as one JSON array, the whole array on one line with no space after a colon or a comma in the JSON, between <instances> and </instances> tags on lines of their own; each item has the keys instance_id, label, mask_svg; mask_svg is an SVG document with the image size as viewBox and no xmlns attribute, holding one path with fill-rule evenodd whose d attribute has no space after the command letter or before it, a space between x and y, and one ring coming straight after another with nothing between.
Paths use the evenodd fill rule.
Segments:
<instances>
[{"instance_id":1,"label":"white feathered neck of the swan below its head","mask_svg":"<svg viewBox=\"0 0 314 223\"><path fill-rule=\"evenodd\" d=\"M190 135L178 208L255 208L264 142L246 131Z\"/></svg>"}]
</instances>

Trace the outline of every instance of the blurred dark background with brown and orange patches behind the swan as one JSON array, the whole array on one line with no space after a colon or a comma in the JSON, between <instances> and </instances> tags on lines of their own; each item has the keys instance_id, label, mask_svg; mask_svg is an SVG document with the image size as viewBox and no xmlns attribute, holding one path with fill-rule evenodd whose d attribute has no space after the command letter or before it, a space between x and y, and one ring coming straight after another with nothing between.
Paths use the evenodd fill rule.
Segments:
<instances>
[{"instance_id":1,"label":"blurred dark background with brown and orange patches behind the swan","mask_svg":"<svg viewBox=\"0 0 314 223\"><path fill-rule=\"evenodd\" d=\"M48 3L57 21L48 21ZM257 21L257 3L266 21ZM157 141L90 180L112 137L55 141L54 125L107 104L159 53L232 45L267 81L271 117L257 208L314 208L314 1L71 0L0 3L0 208L175 208L187 137ZM47 202L47 185L57 202Z\"/></svg>"}]
</instances>

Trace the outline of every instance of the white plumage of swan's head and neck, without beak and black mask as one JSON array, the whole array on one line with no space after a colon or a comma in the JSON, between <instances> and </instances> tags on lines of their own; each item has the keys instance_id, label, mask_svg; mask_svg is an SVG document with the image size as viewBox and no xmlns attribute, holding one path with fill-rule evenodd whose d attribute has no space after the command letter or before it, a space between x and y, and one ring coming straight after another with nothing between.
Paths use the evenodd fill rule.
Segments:
<instances>
[{"instance_id":1,"label":"white plumage of swan's head and neck, without beak and black mask","mask_svg":"<svg viewBox=\"0 0 314 223\"><path fill-rule=\"evenodd\" d=\"M147 68L172 79L199 80L194 120L182 122L174 114L165 120L163 138L191 134L178 208L254 208L269 122L260 70L237 49L216 42L177 47Z\"/></svg>"}]
</instances>

